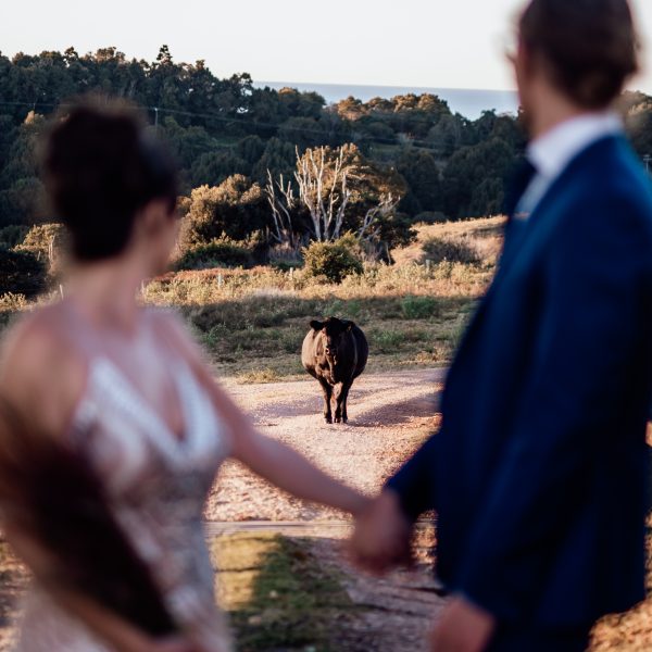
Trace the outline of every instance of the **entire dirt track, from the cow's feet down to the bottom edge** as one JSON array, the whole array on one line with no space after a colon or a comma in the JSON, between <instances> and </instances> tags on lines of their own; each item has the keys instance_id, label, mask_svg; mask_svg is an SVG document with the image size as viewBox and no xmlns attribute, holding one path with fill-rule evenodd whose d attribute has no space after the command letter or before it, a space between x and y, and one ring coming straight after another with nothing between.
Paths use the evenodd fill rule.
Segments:
<instances>
[{"instance_id":1,"label":"entire dirt track, from the cow's feet down to the bottom edge","mask_svg":"<svg viewBox=\"0 0 652 652\"><path fill-rule=\"evenodd\" d=\"M299 450L336 478L374 494L437 427L443 376L442 369L363 375L349 397L346 425L324 423L322 392L312 379L227 384L227 388L265 435ZM342 650L425 650L428 627L443 605L431 577L434 534L427 526L416 537L416 568L376 579L354 572L343 559L341 542L349 527L342 514L290 498L239 464L229 462L221 471L205 516L212 534L242 527L314 537L318 557L336 568L349 597L361 607L348 620Z\"/></svg>"}]
</instances>

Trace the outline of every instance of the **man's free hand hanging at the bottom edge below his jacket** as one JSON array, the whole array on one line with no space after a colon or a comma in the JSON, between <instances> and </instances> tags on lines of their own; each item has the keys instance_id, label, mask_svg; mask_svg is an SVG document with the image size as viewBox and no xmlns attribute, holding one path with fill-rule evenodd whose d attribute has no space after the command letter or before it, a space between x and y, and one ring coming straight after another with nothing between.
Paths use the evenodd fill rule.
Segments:
<instances>
[{"instance_id":1,"label":"man's free hand hanging at the bottom edge below his jacket","mask_svg":"<svg viewBox=\"0 0 652 652\"><path fill-rule=\"evenodd\" d=\"M481 652L496 629L494 617L463 598L453 598L430 635L432 652Z\"/></svg>"}]
</instances>

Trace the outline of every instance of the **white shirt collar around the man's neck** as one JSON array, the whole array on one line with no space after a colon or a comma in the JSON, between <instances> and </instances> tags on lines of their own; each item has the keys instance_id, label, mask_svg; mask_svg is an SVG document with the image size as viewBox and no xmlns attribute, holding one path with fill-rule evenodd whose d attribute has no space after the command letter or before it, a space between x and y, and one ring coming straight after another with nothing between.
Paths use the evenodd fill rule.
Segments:
<instances>
[{"instance_id":1,"label":"white shirt collar around the man's neck","mask_svg":"<svg viewBox=\"0 0 652 652\"><path fill-rule=\"evenodd\" d=\"M579 152L600 138L623 131L623 121L613 111L585 113L553 127L527 148L537 173L556 178Z\"/></svg>"}]
</instances>

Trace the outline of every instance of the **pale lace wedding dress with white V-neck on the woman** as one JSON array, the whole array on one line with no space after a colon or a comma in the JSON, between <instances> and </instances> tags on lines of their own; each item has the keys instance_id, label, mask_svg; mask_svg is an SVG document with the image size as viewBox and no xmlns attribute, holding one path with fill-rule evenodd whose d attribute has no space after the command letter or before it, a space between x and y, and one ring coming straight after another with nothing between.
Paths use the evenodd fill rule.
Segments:
<instances>
[{"instance_id":1,"label":"pale lace wedding dress with white V-neck on the woman","mask_svg":"<svg viewBox=\"0 0 652 652\"><path fill-rule=\"evenodd\" d=\"M88 356L88 380L70 436L102 478L118 524L150 568L174 620L199 638L202 651L227 652L231 645L225 618L215 606L202 511L228 454L228 439L188 364L156 337L153 313L143 317L143 324L128 347L104 346L77 316L73 328ZM172 371L183 437L147 400L143 384L134 380L136 371L138 378L154 381L156 368L164 368L168 378ZM25 600L17 651L108 650L45 590L33 587Z\"/></svg>"}]
</instances>

